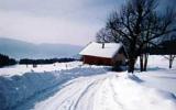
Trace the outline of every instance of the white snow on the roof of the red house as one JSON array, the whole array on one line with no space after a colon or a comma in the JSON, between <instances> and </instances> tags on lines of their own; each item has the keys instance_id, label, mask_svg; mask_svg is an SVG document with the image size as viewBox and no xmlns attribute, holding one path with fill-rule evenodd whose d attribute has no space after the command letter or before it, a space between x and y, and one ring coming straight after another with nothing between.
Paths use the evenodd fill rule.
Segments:
<instances>
[{"instance_id":1,"label":"white snow on the roof of the red house","mask_svg":"<svg viewBox=\"0 0 176 110\"><path fill-rule=\"evenodd\" d=\"M105 43L105 48L102 48L102 43L92 42L88 46L86 46L79 54L112 58L116 53L118 53L121 46L121 43Z\"/></svg>"}]
</instances>

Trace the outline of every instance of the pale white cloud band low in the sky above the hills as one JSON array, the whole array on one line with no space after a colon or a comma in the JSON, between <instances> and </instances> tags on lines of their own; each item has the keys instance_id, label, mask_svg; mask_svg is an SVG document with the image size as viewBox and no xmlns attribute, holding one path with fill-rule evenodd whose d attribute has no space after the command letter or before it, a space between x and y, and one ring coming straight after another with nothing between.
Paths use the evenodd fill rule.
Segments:
<instances>
[{"instance_id":1,"label":"pale white cloud band low in the sky above the hills","mask_svg":"<svg viewBox=\"0 0 176 110\"><path fill-rule=\"evenodd\" d=\"M56 18L32 16L0 11L0 35L35 43L69 43L82 45L92 41L99 25Z\"/></svg>"}]
</instances>

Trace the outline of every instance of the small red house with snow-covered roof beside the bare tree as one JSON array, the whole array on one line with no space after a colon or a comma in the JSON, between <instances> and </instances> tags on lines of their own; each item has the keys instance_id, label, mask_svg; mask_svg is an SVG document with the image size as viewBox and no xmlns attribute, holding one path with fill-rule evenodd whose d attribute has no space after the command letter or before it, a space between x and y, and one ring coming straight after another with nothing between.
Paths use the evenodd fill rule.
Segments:
<instances>
[{"instance_id":1,"label":"small red house with snow-covered roof beside the bare tree","mask_svg":"<svg viewBox=\"0 0 176 110\"><path fill-rule=\"evenodd\" d=\"M127 53L121 43L91 42L79 55L82 56L84 64L90 65L121 65L127 59Z\"/></svg>"}]
</instances>

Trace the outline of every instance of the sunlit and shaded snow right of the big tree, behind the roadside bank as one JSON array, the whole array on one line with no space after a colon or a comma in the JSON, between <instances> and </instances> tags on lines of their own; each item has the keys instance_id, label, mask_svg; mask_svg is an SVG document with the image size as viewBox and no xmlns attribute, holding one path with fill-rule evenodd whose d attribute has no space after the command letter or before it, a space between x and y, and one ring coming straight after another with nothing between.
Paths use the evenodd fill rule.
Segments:
<instances>
[{"instance_id":1,"label":"sunlit and shaded snow right of the big tree, behind the roadside bank","mask_svg":"<svg viewBox=\"0 0 176 110\"><path fill-rule=\"evenodd\" d=\"M164 91L173 92L176 96L176 61L173 68L168 68L168 59L161 55L148 57L148 67L145 73L136 73L138 77L144 80L144 86L154 87ZM136 63L139 67L139 61Z\"/></svg>"}]
</instances>

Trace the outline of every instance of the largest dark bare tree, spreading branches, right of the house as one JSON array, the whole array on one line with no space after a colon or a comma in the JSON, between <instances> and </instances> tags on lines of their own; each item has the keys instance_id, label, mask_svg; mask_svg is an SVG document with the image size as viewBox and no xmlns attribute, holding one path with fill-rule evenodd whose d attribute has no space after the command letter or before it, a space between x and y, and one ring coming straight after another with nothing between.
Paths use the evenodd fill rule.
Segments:
<instances>
[{"instance_id":1,"label":"largest dark bare tree, spreading branches, right of the house","mask_svg":"<svg viewBox=\"0 0 176 110\"><path fill-rule=\"evenodd\" d=\"M138 56L142 56L154 40L176 31L174 10L160 13L156 11L157 4L157 0L129 0L120 12L112 12L108 19L106 29L128 44L123 45L129 53L129 73L134 72Z\"/></svg>"}]
</instances>

